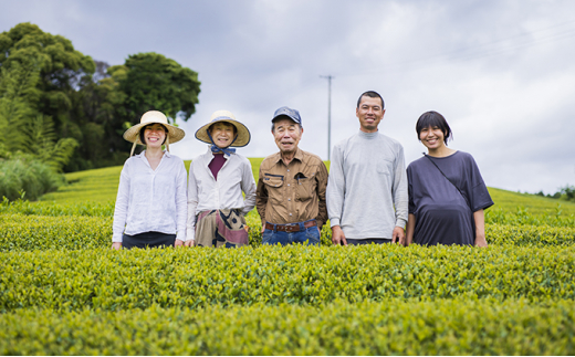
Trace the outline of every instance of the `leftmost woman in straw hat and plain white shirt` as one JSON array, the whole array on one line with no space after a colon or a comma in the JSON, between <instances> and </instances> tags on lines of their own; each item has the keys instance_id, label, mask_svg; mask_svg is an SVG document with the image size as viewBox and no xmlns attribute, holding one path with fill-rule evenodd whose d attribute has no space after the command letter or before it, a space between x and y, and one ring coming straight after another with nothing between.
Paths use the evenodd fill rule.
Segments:
<instances>
[{"instance_id":1,"label":"leftmost woman in straw hat and plain white shirt","mask_svg":"<svg viewBox=\"0 0 575 357\"><path fill-rule=\"evenodd\" d=\"M184 245L187 175L184 161L169 153L169 144L185 135L157 111L146 112L138 125L124 133L134 145L119 177L114 249ZM145 145L146 150L132 156L136 144Z\"/></svg>"}]
</instances>

